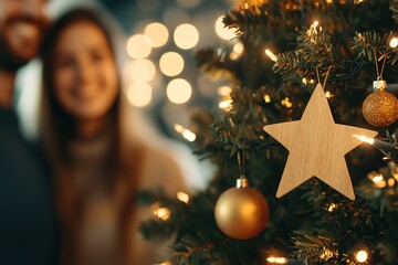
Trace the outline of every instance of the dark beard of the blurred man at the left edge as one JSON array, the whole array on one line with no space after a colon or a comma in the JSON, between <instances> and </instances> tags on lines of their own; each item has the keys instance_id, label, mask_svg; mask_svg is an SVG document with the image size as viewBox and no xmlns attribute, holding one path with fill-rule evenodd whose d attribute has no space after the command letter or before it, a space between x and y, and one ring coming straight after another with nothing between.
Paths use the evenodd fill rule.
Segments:
<instances>
[{"instance_id":1,"label":"dark beard of the blurred man at the left edge","mask_svg":"<svg viewBox=\"0 0 398 265\"><path fill-rule=\"evenodd\" d=\"M14 54L0 32L0 70L13 73L28 62L29 60L21 60Z\"/></svg>"}]
</instances>

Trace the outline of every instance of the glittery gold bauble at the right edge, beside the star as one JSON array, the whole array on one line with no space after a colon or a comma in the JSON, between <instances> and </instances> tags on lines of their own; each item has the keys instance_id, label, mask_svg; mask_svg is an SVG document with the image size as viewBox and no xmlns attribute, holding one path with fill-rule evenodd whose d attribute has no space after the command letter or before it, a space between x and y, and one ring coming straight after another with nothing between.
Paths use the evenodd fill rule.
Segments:
<instances>
[{"instance_id":1,"label":"glittery gold bauble at the right edge, beside the star","mask_svg":"<svg viewBox=\"0 0 398 265\"><path fill-rule=\"evenodd\" d=\"M389 92L377 89L365 98L363 115L370 125L386 127L398 118L398 99Z\"/></svg>"}]
</instances>

